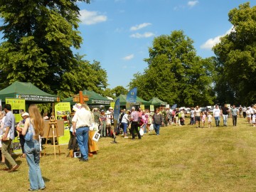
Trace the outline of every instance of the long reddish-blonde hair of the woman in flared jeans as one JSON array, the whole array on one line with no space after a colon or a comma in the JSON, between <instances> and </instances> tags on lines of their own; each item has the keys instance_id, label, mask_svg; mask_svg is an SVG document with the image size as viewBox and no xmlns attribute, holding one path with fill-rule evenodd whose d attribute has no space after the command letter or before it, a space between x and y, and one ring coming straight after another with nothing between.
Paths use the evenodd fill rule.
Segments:
<instances>
[{"instance_id":1,"label":"long reddish-blonde hair of the woman in flared jeans","mask_svg":"<svg viewBox=\"0 0 256 192\"><path fill-rule=\"evenodd\" d=\"M36 135L43 136L43 117L40 114L38 107L35 104L32 104L28 107L29 117L31 117L31 122L33 122L33 127L35 129Z\"/></svg>"}]
</instances>

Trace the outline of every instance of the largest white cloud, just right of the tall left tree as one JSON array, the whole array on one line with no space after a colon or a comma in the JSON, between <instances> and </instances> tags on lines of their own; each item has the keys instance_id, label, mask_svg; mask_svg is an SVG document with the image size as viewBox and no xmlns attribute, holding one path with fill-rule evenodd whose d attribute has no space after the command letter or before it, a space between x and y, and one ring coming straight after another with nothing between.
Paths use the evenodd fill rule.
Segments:
<instances>
[{"instance_id":1,"label":"largest white cloud, just right of the tall left tree","mask_svg":"<svg viewBox=\"0 0 256 192\"><path fill-rule=\"evenodd\" d=\"M83 9L80 11L79 19L82 22L82 24L89 26L96 23L107 21L107 16L100 15L100 13L97 11L87 11L86 9Z\"/></svg>"}]
</instances>

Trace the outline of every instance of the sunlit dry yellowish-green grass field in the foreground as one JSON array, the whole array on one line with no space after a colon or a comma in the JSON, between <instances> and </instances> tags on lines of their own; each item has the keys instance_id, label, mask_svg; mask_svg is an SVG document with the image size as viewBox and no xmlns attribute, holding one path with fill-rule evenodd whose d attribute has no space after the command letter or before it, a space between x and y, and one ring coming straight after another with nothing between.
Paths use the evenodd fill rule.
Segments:
<instances>
[{"instance_id":1,"label":"sunlit dry yellowish-green grass field in the foreground","mask_svg":"<svg viewBox=\"0 0 256 192\"><path fill-rule=\"evenodd\" d=\"M256 128L243 118L238 127L169 126L159 136L110 142L100 139L88 162L67 158L67 145L55 160L48 146L41 159L46 191L256 191ZM0 191L28 190L26 159L16 161L18 171L0 172Z\"/></svg>"}]
</instances>

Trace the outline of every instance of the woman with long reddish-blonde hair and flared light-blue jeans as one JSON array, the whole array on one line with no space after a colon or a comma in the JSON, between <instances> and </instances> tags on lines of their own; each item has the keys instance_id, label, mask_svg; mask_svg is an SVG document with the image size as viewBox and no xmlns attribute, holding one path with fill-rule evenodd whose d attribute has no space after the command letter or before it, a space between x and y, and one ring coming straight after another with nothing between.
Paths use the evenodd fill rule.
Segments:
<instances>
[{"instance_id":1,"label":"woman with long reddish-blonde hair and flared light-blue jeans","mask_svg":"<svg viewBox=\"0 0 256 192\"><path fill-rule=\"evenodd\" d=\"M43 136L43 117L41 116L36 105L30 105L28 108L29 118L26 119L24 128L22 130L23 136L27 132L32 132L33 137L30 141L25 140L24 149L26 152L26 160L28 162L28 175L30 188L28 191L43 190L46 185L40 169L40 143L39 135Z\"/></svg>"}]
</instances>

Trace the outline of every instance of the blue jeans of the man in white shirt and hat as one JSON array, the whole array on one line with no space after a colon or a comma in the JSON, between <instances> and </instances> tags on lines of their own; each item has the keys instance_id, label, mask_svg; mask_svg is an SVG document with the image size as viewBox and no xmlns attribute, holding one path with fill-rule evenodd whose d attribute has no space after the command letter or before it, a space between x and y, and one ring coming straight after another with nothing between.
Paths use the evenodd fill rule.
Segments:
<instances>
[{"instance_id":1,"label":"blue jeans of the man in white shirt and hat","mask_svg":"<svg viewBox=\"0 0 256 192\"><path fill-rule=\"evenodd\" d=\"M89 138L89 127L80 127L76 129L76 137L78 145L82 153L82 159L88 159L88 138Z\"/></svg>"}]
</instances>

